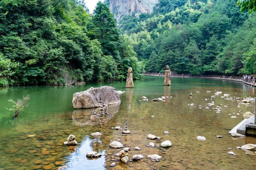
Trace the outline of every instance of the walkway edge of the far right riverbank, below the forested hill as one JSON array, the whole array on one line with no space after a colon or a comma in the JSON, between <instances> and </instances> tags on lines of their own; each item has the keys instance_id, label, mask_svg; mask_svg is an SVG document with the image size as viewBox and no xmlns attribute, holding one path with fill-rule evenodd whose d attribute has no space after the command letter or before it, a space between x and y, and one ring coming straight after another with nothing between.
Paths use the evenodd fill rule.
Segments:
<instances>
[{"instance_id":1,"label":"walkway edge of the far right riverbank, below the forested hill","mask_svg":"<svg viewBox=\"0 0 256 170\"><path fill-rule=\"evenodd\" d=\"M158 75L158 74L142 74L142 75L143 76L160 76L160 77L163 77L163 75ZM188 76L180 76L180 75L171 75L171 77L232 80L232 81L237 81L237 82L243 82L247 85L251 85L253 87L256 87L256 83L253 84L253 82L251 82L250 79L244 79L243 77L216 76L216 75L201 75L200 77L198 77L198 76L188 77ZM254 82L255 82L255 80L254 80Z\"/></svg>"}]
</instances>

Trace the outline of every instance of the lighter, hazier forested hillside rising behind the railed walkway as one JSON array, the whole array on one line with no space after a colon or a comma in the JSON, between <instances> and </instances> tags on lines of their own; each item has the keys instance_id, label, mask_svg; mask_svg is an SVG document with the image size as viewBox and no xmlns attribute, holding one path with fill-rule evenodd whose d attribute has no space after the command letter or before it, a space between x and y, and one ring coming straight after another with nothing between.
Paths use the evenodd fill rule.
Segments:
<instances>
[{"instance_id":1,"label":"lighter, hazier forested hillside rising behind the railed walkway","mask_svg":"<svg viewBox=\"0 0 256 170\"><path fill-rule=\"evenodd\" d=\"M153 14L119 23L145 71L256 74L256 15L236 0L160 0Z\"/></svg>"}]
</instances>

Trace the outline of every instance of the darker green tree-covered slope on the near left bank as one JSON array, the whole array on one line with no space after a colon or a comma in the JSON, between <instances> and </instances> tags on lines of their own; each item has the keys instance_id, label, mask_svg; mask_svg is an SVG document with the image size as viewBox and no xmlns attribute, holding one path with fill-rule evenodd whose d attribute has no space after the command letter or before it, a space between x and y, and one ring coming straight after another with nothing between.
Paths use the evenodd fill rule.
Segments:
<instances>
[{"instance_id":1,"label":"darker green tree-covered slope on the near left bank","mask_svg":"<svg viewBox=\"0 0 256 170\"><path fill-rule=\"evenodd\" d=\"M80 0L0 0L0 86L125 79L143 72L109 8Z\"/></svg>"}]
</instances>

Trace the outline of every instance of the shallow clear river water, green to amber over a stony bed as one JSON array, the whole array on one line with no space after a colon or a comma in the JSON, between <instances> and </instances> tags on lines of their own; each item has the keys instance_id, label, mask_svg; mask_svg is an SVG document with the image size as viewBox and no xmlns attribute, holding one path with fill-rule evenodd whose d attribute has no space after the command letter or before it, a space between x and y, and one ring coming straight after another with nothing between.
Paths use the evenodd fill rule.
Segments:
<instances>
[{"instance_id":1,"label":"shallow clear river water, green to amber over a stony bed","mask_svg":"<svg viewBox=\"0 0 256 170\"><path fill-rule=\"evenodd\" d=\"M93 109L73 109L72 96L75 92L101 85L126 91L120 95L120 105L109 105L109 115L90 120ZM216 91L221 91L222 94L212 99L214 106L206 109L207 103L212 102L210 96L215 95ZM27 94L31 95L29 107L17 119L12 119L14 113L5 109L11 107L8 99L16 100ZM252 106L241 105L238 108L237 101L221 98L223 94L230 94L231 97L255 97L256 91L241 82L176 77L172 78L171 86L167 87L163 86L163 77L150 76L134 81L134 88L126 89L125 82L0 88L0 170L60 167L70 170L253 170L256 166L255 153L245 154L244 150L236 147L247 143L256 144L256 138L232 139L228 132L244 119L244 112L254 111L254 103L251 103ZM145 102L142 96L150 100ZM165 102L151 101L161 96L173 98L168 98ZM192 103L195 105L188 105ZM203 105L203 108L200 109L198 105ZM212 109L216 106L221 107L222 113L216 113ZM231 116L236 118L232 119ZM123 127L125 122L128 122L130 135L123 136L121 130L111 129ZM163 134L166 130L169 135ZM102 133L100 138L90 136L97 131ZM79 143L76 147L63 145L70 134L76 136ZM148 134L163 139L151 141L147 139ZM29 138L29 135L35 137ZM216 135L223 138L216 138ZM204 136L207 140L198 141L197 136ZM142 154L144 159L122 164L119 157L114 156L121 149L109 147L109 143L117 139L120 139L124 147L131 147L129 159L135 154ZM161 147L146 147L149 142L160 144L165 140L170 140L172 147L165 150ZM134 150L136 146L141 150ZM232 150L228 150L228 147ZM87 159L86 153L93 150L105 156ZM227 155L229 151L237 156ZM158 154L162 159L158 162L147 159L146 156L151 154ZM117 165L110 167L113 162Z\"/></svg>"}]
</instances>

